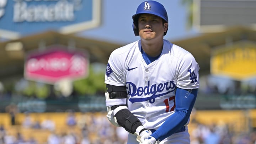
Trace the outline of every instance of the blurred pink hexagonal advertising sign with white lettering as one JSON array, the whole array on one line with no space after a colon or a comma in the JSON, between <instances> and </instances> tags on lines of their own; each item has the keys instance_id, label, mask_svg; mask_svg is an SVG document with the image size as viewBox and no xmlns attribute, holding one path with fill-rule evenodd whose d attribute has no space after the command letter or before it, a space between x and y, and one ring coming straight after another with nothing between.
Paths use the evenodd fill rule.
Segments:
<instances>
[{"instance_id":1,"label":"blurred pink hexagonal advertising sign with white lettering","mask_svg":"<svg viewBox=\"0 0 256 144\"><path fill-rule=\"evenodd\" d=\"M81 50L69 50L64 46L50 46L44 51L28 53L25 58L24 77L29 80L53 84L61 79L85 78L89 58Z\"/></svg>"}]
</instances>

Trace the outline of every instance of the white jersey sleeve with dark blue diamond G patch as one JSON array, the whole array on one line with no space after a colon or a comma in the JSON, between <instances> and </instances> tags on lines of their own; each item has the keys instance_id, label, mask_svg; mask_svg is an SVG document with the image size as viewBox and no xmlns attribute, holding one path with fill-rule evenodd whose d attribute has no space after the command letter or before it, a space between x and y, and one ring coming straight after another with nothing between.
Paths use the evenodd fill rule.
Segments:
<instances>
[{"instance_id":1,"label":"white jersey sleeve with dark blue diamond G patch","mask_svg":"<svg viewBox=\"0 0 256 144\"><path fill-rule=\"evenodd\" d=\"M123 75L123 65L120 55L118 55L117 50L114 50L110 58L108 59L108 64L105 74L105 84L124 86L124 75Z\"/></svg>"}]
</instances>

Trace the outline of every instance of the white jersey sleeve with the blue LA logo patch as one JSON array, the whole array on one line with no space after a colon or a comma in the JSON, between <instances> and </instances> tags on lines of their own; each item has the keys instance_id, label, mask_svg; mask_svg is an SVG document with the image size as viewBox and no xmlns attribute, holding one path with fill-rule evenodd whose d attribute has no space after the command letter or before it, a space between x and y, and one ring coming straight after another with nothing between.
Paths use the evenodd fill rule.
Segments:
<instances>
[{"instance_id":1,"label":"white jersey sleeve with the blue LA logo patch","mask_svg":"<svg viewBox=\"0 0 256 144\"><path fill-rule=\"evenodd\" d=\"M191 53L185 54L177 63L177 87L181 89L199 88L199 65Z\"/></svg>"}]
</instances>

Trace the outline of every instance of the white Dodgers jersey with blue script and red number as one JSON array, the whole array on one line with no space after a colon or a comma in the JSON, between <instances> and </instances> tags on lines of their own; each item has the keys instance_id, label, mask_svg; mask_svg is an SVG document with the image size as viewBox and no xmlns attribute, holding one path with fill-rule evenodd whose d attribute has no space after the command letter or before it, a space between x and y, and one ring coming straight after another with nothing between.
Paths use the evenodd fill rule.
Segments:
<instances>
[{"instance_id":1,"label":"white Dodgers jersey with blue script and red number","mask_svg":"<svg viewBox=\"0 0 256 144\"><path fill-rule=\"evenodd\" d=\"M164 40L160 57L146 64L140 40L114 50L105 83L127 88L127 106L147 129L175 112L175 88L197 89L199 66L191 53Z\"/></svg>"}]
</instances>

